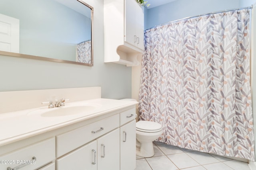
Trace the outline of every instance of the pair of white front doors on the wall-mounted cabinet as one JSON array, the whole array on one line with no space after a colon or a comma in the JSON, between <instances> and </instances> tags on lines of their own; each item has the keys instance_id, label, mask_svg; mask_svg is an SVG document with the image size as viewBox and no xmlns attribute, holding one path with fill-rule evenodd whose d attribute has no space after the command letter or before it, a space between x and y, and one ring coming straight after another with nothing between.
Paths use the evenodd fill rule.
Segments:
<instances>
[{"instance_id":1,"label":"pair of white front doors on the wall-mounted cabinet","mask_svg":"<svg viewBox=\"0 0 256 170\"><path fill-rule=\"evenodd\" d=\"M135 0L125 0L124 41L144 50L144 7Z\"/></svg>"}]
</instances>

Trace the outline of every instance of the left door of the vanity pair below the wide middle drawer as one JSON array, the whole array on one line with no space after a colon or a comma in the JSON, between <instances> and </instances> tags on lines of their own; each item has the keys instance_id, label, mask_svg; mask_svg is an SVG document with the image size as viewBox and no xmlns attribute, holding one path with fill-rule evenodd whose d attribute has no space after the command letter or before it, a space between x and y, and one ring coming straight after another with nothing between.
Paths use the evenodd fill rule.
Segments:
<instances>
[{"instance_id":1,"label":"left door of the vanity pair below the wide middle drawer","mask_svg":"<svg viewBox=\"0 0 256 170\"><path fill-rule=\"evenodd\" d=\"M97 170L97 141L56 160L56 170Z\"/></svg>"}]
</instances>

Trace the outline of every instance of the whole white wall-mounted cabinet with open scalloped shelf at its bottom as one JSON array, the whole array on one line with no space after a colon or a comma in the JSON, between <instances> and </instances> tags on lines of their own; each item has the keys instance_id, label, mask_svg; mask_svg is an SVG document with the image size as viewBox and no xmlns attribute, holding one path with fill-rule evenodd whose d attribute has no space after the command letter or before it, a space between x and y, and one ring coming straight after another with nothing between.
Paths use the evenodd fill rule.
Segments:
<instances>
[{"instance_id":1,"label":"whole white wall-mounted cabinet with open scalloped shelf at its bottom","mask_svg":"<svg viewBox=\"0 0 256 170\"><path fill-rule=\"evenodd\" d=\"M144 50L144 7L135 0L104 0L104 62L136 66Z\"/></svg>"}]
</instances>

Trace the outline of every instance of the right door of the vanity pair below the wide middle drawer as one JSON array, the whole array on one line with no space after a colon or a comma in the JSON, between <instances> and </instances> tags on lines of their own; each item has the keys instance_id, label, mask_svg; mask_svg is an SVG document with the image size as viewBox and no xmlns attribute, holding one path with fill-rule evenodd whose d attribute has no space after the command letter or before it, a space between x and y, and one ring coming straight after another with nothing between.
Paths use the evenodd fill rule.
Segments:
<instances>
[{"instance_id":1,"label":"right door of the vanity pair below the wide middle drawer","mask_svg":"<svg viewBox=\"0 0 256 170\"><path fill-rule=\"evenodd\" d=\"M98 170L120 170L119 128L98 138Z\"/></svg>"}]
</instances>

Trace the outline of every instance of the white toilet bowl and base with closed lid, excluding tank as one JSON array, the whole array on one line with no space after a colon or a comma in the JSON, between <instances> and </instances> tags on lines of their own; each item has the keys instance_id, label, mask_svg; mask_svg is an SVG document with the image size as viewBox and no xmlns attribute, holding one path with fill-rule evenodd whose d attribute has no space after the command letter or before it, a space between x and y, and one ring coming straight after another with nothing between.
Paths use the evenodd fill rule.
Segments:
<instances>
[{"instance_id":1,"label":"white toilet bowl and base with closed lid, excluding tank","mask_svg":"<svg viewBox=\"0 0 256 170\"><path fill-rule=\"evenodd\" d=\"M142 157L154 156L153 141L162 134L162 125L153 121L138 121L136 123L136 155Z\"/></svg>"}]
</instances>

